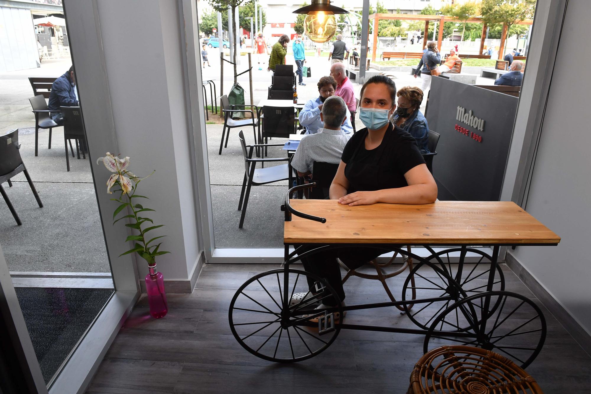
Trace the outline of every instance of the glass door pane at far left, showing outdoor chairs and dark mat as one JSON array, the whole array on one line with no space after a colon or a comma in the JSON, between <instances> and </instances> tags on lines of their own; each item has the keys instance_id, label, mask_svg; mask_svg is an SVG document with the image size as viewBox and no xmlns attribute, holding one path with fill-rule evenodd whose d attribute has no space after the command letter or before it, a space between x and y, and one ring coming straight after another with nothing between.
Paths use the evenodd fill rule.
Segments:
<instances>
[{"instance_id":1,"label":"glass door pane at far left, showing outdoor chairs and dark mat","mask_svg":"<svg viewBox=\"0 0 591 394\"><path fill-rule=\"evenodd\" d=\"M23 13L26 40L41 45L31 11L11 12ZM0 268L47 387L115 291L65 19L51 18L52 40L42 46L51 51L22 46L21 58L30 50L39 65L15 61L0 72Z\"/></svg>"}]
</instances>

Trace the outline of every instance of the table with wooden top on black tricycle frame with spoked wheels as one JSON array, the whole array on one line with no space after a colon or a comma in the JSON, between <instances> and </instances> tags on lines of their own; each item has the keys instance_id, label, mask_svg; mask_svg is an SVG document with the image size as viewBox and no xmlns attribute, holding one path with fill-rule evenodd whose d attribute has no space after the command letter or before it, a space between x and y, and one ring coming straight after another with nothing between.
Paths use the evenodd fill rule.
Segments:
<instances>
[{"instance_id":1,"label":"table with wooden top on black tricycle frame with spoked wheels","mask_svg":"<svg viewBox=\"0 0 591 394\"><path fill-rule=\"evenodd\" d=\"M545 340L544 315L529 298L504 290L499 248L557 245L558 235L514 202L348 206L334 200L288 199L295 190L313 185L290 189L281 207L282 267L248 279L233 296L230 328L242 347L269 361L301 361L325 350L340 330L348 329L424 335L424 353L452 343L496 351L521 367L535 359ZM291 253L290 246L294 246ZM420 257L404 246L422 246L431 256ZM434 246L447 248L436 252ZM470 246L490 246L492 254ZM395 251L418 261L410 267L401 300L314 309L314 302L339 296L324 279L290 265L301 257L343 247ZM481 258L470 270L465 260L475 252ZM459 254L457 264L450 264L450 254ZM416 290L417 298L408 296L411 290ZM298 292L306 295L294 303ZM345 311L392 306L402 306L418 328L343 322ZM343 318L337 319L336 312Z\"/></svg>"}]
</instances>

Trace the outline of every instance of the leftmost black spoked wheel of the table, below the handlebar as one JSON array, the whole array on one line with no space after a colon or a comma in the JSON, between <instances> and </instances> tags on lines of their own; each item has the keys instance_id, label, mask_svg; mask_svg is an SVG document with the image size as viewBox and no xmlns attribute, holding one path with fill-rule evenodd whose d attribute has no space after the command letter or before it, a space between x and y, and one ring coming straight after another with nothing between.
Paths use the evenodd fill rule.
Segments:
<instances>
[{"instance_id":1,"label":"leftmost black spoked wheel of the table, below the handlebar","mask_svg":"<svg viewBox=\"0 0 591 394\"><path fill-rule=\"evenodd\" d=\"M304 295L291 302L298 293ZM339 335L340 320L333 317L336 313L343 315L342 306L339 304L328 311L314 309L330 296L339 299L323 279L309 272L296 269L263 272L248 279L233 296L230 329L243 348L261 359L278 363L310 359ZM323 330L327 328L322 334L318 318Z\"/></svg>"}]
</instances>

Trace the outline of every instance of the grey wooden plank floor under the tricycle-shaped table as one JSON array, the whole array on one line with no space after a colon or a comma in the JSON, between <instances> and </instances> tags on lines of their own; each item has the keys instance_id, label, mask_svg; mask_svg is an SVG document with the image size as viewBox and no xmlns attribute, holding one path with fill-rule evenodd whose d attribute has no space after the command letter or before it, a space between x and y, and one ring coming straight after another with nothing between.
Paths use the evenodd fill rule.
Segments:
<instances>
[{"instance_id":1,"label":"grey wooden plank floor under the tricycle-shaped table","mask_svg":"<svg viewBox=\"0 0 591 394\"><path fill-rule=\"evenodd\" d=\"M275 364L243 350L230 332L228 306L236 289L271 265L207 264L190 295L168 295L168 315L152 319L142 297L125 322L87 393L405 393L415 362L423 355L419 335L342 330L313 359ZM300 266L296 266L300 267ZM480 267L478 267L480 269ZM535 299L502 264L506 290ZM404 278L389 280L394 294ZM374 280L345 284L349 305L389 301ZM538 305L540 303L535 300ZM527 371L545 393L591 393L591 358L543 308L548 335ZM349 311L350 324L414 328L397 309Z\"/></svg>"}]
</instances>

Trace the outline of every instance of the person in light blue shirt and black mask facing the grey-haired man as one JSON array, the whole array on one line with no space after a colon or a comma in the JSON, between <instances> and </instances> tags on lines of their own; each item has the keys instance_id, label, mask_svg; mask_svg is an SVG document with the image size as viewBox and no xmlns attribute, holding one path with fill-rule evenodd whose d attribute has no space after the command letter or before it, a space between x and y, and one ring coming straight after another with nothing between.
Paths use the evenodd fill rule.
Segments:
<instances>
[{"instance_id":1,"label":"person in light blue shirt and black mask facing the grey-haired man","mask_svg":"<svg viewBox=\"0 0 591 394\"><path fill-rule=\"evenodd\" d=\"M306 127L306 134L316 134L319 128L324 127L324 122L320 119L320 112L322 111L324 101L330 96L335 95L336 80L331 76L322 77L318 81L317 86L320 96L308 100L304 108L301 109L300 116L298 117L300 124ZM349 109L347 109L347 116L345 123L341 126L341 130L345 134L350 134L353 131Z\"/></svg>"}]
</instances>

